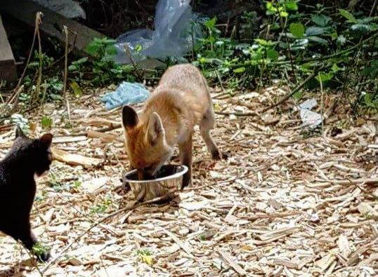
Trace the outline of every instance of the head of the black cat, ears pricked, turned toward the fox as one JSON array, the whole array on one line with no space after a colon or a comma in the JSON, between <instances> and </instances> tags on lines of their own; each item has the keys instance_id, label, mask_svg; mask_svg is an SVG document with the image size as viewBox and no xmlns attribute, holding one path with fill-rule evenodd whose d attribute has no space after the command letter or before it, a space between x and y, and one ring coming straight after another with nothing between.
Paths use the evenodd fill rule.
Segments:
<instances>
[{"instance_id":1,"label":"head of the black cat, ears pricked, turned toward the fox","mask_svg":"<svg viewBox=\"0 0 378 277\"><path fill-rule=\"evenodd\" d=\"M50 169L53 155L51 154L51 142L53 135L45 134L39 139L31 139L18 127L15 132L15 142L11 148L13 156L24 159L23 164L30 166L38 176Z\"/></svg>"}]
</instances>

